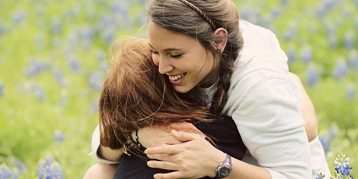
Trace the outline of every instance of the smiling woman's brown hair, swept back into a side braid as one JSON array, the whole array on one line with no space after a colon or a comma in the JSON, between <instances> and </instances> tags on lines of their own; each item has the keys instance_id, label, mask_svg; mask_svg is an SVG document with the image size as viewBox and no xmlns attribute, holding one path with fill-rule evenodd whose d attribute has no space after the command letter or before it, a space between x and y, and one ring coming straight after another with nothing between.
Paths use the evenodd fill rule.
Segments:
<instances>
[{"instance_id":1,"label":"smiling woman's brown hair, swept back into a side braid","mask_svg":"<svg viewBox=\"0 0 358 179\"><path fill-rule=\"evenodd\" d=\"M152 0L147 5L147 18L156 26L166 30L186 34L197 39L215 57L218 66L216 78L217 88L211 104L211 110L219 115L227 101L227 92L234 70L234 62L243 46L243 38L239 32L239 15L231 0L186 0L197 9L178 0ZM213 25L211 25L212 21ZM216 29L224 28L227 37L213 35ZM227 39L227 45L221 55L218 55L213 42Z\"/></svg>"}]
</instances>

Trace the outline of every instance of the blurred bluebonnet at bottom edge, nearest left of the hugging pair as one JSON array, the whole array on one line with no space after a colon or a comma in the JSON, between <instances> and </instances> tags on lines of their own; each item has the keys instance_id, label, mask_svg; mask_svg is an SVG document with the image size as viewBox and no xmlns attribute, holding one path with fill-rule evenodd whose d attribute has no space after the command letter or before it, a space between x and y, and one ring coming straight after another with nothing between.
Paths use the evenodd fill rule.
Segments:
<instances>
[{"instance_id":1,"label":"blurred bluebonnet at bottom edge, nearest left of the hugging pair","mask_svg":"<svg viewBox=\"0 0 358 179\"><path fill-rule=\"evenodd\" d=\"M39 179L63 179L60 164L55 161L52 155L46 155L38 162L36 176Z\"/></svg>"}]
</instances>

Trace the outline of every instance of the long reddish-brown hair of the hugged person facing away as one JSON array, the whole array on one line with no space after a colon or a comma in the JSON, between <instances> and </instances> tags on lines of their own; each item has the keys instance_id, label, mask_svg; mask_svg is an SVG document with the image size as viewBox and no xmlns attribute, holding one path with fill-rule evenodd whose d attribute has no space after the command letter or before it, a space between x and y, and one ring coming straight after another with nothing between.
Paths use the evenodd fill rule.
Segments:
<instances>
[{"instance_id":1,"label":"long reddish-brown hair of the hugged person facing away","mask_svg":"<svg viewBox=\"0 0 358 179\"><path fill-rule=\"evenodd\" d=\"M154 65L146 39L117 39L108 50L108 59L111 68L99 97L101 145L119 149L140 127L212 119L206 107L178 97Z\"/></svg>"}]
</instances>

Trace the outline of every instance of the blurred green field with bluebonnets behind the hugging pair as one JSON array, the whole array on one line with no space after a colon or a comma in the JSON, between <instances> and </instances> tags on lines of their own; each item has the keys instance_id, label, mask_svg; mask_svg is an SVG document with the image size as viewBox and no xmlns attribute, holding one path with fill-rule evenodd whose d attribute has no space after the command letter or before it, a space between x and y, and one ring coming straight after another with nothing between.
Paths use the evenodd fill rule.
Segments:
<instances>
[{"instance_id":1,"label":"blurred green field with bluebonnets behind the hugging pair","mask_svg":"<svg viewBox=\"0 0 358 179\"><path fill-rule=\"evenodd\" d=\"M122 35L146 38L141 0L0 0L0 178L82 178ZM358 0L235 1L272 30L315 105L331 172L358 174ZM325 177L328 178L328 177Z\"/></svg>"}]
</instances>

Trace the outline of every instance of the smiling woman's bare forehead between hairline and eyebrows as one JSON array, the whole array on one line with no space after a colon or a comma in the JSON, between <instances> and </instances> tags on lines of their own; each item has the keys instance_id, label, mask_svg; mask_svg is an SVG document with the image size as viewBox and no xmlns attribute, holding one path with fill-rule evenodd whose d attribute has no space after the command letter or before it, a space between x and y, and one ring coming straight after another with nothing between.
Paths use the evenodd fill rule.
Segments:
<instances>
[{"instance_id":1,"label":"smiling woman's bare forehead between hairline and eyebrows","mask_svg":"<svg viewBox=\"0 0 358 179\"><path fill-rule=\"evenodd\" d=\"M148 21L148 40L150 46L159 49L184 49L200 45L189 35L175 33L156 26L151 20Z\"/></svg>"}]
</instances>

